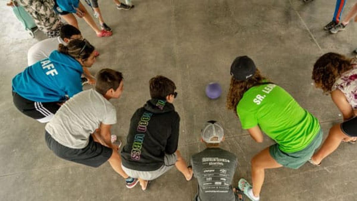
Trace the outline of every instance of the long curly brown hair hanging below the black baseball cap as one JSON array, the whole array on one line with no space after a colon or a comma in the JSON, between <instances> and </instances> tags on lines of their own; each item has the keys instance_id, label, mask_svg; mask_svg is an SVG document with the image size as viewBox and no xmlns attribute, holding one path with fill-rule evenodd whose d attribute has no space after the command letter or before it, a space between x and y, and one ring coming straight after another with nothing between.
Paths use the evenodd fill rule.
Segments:
<instances>
[{"instance_id":1,"label":"long curly brown hair hanging below the black baseball cap","mask_svg":"<svg viewBox=\"0 0 357 201\"><path fill-rule=\"evenodd\" d=\"M236 108L239 101L242 99L243 94L256 84L262 83L266 78L260 74L260 71L256 69L255 75L247 80L236 80L231 78L231 84L229 92L227 94L227 109L232 109L236 113Z\"/></svg>"}]
</instances>

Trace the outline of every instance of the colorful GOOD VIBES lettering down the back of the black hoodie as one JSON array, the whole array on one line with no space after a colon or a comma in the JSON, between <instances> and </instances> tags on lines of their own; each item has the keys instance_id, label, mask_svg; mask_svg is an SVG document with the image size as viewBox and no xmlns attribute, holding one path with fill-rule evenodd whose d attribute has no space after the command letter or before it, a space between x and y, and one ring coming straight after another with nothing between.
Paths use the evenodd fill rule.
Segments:
<instances>
[{"instance_id":1,"label":"colorful GOOD VIBES lettering down the back of the black hoodie","mask_svg":"<svg viewBox=\"0 0 357 201\"><path fill-rule=\"evenodd\" d=\"M134 137L134 143L132 145L131 149L131 159L135 161L140 160L140 155L141 155L141 148L142 148L142 143L144 143L144 137L145 137L145 132L147 129L147 126L149 125L150 118L152 116L152 112L144 112L142 114L140 121L138 123L137 132L140 132L135 135Z\"/></svg>"}]
</instances>

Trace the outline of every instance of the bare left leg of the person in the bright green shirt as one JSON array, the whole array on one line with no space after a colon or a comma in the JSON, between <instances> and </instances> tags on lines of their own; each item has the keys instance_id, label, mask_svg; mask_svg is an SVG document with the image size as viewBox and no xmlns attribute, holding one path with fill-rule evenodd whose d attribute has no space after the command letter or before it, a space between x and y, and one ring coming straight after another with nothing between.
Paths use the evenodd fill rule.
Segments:
<instances>
[{"instance_id":1,"label":"bare left leg of the person in the bright green shirt","mask_svg":"<svg viewBox=\"0 0 357 201\"><path fill-rule=\"evenodd\" d=\"M263 151L255 155L251 163L253 194L258 197L264 182L264 170L282 167L282 165L277 163L274 158L270 156L269 147L263 149Z\"/></svg>"}]
</instances>

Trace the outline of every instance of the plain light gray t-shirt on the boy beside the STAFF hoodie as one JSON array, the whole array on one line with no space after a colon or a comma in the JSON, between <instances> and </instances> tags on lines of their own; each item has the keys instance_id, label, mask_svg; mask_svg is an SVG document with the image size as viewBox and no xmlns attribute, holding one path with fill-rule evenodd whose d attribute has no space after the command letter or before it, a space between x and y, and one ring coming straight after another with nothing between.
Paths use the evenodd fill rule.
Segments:
<instances>
[{"instance_id":1,"label":"plain light gray t-shirt on the boy beside the STAFF hoodie","mask_svg":"<svg viewBox=\"0 0 357 201\"><path fill-rule=\"evenodd\" d=\"M74 149L87 146L100 123L115 124L115 107L94 89L74 95L46 124L46 131L60 144Z\"/></svg>"}]
</instances>

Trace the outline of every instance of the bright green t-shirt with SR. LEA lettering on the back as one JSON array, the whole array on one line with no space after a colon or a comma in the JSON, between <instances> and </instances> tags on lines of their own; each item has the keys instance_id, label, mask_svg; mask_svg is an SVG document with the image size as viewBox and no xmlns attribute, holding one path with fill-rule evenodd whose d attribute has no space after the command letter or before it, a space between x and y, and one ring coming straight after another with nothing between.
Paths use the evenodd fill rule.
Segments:
<instances>
[{"instance_id":1,"label":"bright green t-shirt with SR. LEA lettering on the back","mask_svg":"<svg viewBox=\"0 0 357 201\"><path fill-rule=\"evenodd\" d=\"M316 117L275 84L250 88L237 105L243 129L259 125L286 153L305 148L320 130Z\"/></svg>"}]
</instances>

